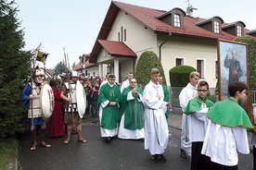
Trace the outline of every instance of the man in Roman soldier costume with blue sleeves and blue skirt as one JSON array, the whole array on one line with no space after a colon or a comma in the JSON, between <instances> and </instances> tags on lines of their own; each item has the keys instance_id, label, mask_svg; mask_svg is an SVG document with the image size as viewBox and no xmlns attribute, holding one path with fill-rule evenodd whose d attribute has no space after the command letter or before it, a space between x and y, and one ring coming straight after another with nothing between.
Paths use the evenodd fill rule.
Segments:
<instances>
[{"instance_id":1,"label":"man in Roman soldier costume with blue sleeves and blue skirt","mask_svg":"<svg viewBox=\"0 0 256 170\"><path fill-rule=\"evenodd\" d=\"M24 89L21 94L21 100L24 105L29 105L28 110L28 117L31 121L31 134L32 134L32 148L31 151L35 150L36 147L36 126L40 126L40 145L44 146L45 148L50 148L51 145L45 142L45 120L43 119L42 110L41 110L41 103L40 103L40 94L41 94L41 87L43 83L44 72L36 67L32 74L32 81L27 83L24 86Z\"/></svg>"}]
</instances>

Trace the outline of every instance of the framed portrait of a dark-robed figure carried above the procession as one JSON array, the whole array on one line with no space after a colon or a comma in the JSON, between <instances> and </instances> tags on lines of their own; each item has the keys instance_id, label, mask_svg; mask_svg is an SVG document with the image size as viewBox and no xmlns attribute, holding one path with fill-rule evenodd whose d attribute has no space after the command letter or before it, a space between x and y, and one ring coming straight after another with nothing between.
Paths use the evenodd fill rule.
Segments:
<instances>
[{"instance_id":1,"label":"framed portrait of a dark-robed figure carried above the procession","mask_svg":"<svg viewBox=\"0 0 256 170\"><path fill-rule=\"evenodd\" d=\"M248 83L248 47L246 43L218 41L219 100L229 97L228 85L234 81Z\"/></svg>"}]
</instances>

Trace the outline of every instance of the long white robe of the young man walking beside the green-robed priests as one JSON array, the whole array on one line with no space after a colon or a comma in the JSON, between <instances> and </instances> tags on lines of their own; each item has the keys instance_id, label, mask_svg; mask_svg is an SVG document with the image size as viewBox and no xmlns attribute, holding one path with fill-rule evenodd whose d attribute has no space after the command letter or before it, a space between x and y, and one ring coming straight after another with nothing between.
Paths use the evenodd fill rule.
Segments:
<instances>
[{"instance_id":1,"label":"long white robe of the young man walking beside the green-robed priests","mask_svg":"<svg viewBox=\"0 0 256 170\"><path fill-rule=\"evenodd\" d=\"M157 94L160 94L160 99ZM150 80L143 91L142 101L146 107L144 147L151 155L162 154L169 140L169 129L164 114L167 107L163 99L161 85Z\"/></svg>"}]
</instances>

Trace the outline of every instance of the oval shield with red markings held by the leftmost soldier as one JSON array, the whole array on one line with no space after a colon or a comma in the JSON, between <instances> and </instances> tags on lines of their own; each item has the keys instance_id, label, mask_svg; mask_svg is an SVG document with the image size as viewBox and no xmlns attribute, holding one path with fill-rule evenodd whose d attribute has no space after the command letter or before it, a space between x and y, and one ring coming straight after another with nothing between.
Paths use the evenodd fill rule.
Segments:
<instances>
[{"instance_id":1,"label":"oval shield with red markings held by the leftmost soldier","mask_svg":"<svg viewBox=\"0 0 256 170\"><path fill-rule=\"evenodd\" d=\"M40 94L42 116L47 121L54 110L54 93L47 81L42 85Z\"/></svg>"}]
</instances>

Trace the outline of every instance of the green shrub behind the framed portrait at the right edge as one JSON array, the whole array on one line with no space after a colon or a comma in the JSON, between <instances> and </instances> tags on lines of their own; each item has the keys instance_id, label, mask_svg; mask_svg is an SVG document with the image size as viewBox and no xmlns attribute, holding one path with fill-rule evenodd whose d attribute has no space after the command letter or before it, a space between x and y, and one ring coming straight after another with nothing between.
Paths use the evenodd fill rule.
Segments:
<instances>
[{"instance_id":1,"label":"green shrub behind the framed portrait at the right edge","mask_svg":"<svg viewBox=\"0 0 256 170\"><path fill-rule=\"evenodd\" d=\"M250 91L256 91L256 39L251 36L242 36L235 39L236 42L248 44L248 80Z\"/></svg>"}]
</instances>

